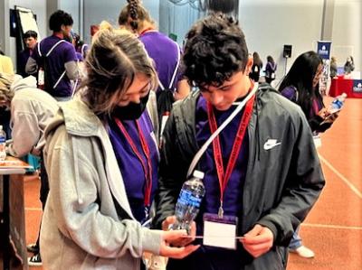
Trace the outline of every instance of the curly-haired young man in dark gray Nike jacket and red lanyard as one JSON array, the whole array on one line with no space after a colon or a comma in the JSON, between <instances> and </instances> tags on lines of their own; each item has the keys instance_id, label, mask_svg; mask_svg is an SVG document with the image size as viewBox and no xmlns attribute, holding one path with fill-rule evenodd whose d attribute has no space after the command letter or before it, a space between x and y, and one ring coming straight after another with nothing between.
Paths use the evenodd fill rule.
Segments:
<instances>
[{"instance_id":1,"label":"curly-haired young man in dark gray Nike jacket and red lanyard","mask_svg":"<svg viewBox=\"0 0 362 270\"><path fill-rule=\"evenodd\" d=\"M169 260L167 269L284 269L293 232L325 183L308 122L300 107L248 77L252 57L233 18L211 14L186 38L185 76L199 91L176 102L168 118L154 226L175 221L178 194L196 164L205 172L205 197L195 218L202 246Z\"/></svg>"}]
</instances>

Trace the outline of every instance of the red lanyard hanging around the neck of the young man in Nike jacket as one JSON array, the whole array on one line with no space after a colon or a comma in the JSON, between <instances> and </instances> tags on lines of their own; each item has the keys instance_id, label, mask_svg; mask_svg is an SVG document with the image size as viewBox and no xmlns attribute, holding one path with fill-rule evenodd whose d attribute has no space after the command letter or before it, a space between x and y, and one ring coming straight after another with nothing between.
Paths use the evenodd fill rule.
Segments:
<instances>
[{"instance_id":1,"label":"red lanyard hanging around the neck of the young man in Nike jacket","mask_svg":"<svg viewBox=\"0 0 362 270\"><path fill-rule=\"evenodd\" d=\"M240 120L239 128L236 133L235 139L233 141L233 148L232 148L232 152L229 157L229 161L227 163L226 172L224 171L224 163L223 163L223 156L221 153L219 135L217 135L213 141L214 162L216 164L216 172L217 172L217 177L219 179L219 185L220 185L221 214L220 214L220 210L219 210L219 216L223 215L224 191L226 189L227 182L229 182L229 180L230 180L230 177L233 172L233 167L235 166L237 157L239 156L240 150L242 148L243 137L245 135L246 128L249 125L249 121L252 116L252 107L254 104L254 98L255 98L255 95L252 95L252 98L250 98L246 103L243 117ZM211 103L209 103L209 102L207 103L207 116L209 119L211 133L214 133L217 129L217 123L216 123L216 119L214 116L214 108L211 105Z\"/></svg>"}]
</instances>

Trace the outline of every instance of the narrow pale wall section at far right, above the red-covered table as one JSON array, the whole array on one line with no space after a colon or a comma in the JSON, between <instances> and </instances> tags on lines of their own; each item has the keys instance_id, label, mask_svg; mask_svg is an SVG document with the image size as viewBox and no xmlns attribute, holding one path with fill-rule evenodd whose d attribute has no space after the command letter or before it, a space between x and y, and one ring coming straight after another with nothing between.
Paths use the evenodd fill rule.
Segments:
<instances>
[{"instance_id":1,"label":"narrow pale wall section at far right, above the red-covered table","mask_svg":"<svg viewBox=\"0 0 362 270\"><path fill-rule=\"evenodd\" d=\"M362 70L362 1L336 0L332 31L332 55L343 66L352 55L356 70Z\"/></svg>"}]
</instances>

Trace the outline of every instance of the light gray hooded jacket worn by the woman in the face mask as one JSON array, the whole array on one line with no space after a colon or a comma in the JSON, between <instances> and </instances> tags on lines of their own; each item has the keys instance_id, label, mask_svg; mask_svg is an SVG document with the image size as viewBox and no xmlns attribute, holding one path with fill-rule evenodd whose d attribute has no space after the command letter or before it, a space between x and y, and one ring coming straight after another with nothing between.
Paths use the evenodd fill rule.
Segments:
<instances>
[{"instance_id":1,"label":"light gray hooded jacket worn by the woman in the face mask","mask_svg":"<svg viewBox=\"0 0 362 270\"><path fill-rule=\"evenodd\" d=\"M50 192L40 246L45 269L139 269L161 231L132 216L107 126L81 101L64 102L45 131Z\"/></svg>"}]
</instances>

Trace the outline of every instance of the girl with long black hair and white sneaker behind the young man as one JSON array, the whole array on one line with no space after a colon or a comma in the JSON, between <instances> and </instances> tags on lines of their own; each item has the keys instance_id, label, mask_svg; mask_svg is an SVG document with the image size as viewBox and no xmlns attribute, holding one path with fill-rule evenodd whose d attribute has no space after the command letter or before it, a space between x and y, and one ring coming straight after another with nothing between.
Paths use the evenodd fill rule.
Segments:
<instances>
[{"instance_id":1,"label":"girl with long black hair and white sneaker behind the young man","mask_svg":"<svg viewBox=\"0 0 362 270\"><path fill-rule=\"evenodd\" d=\"M306 51L293 62L291 70L281 81L279 88L282 96L301 107L314 135L329 129L338 116L338 114L329 116L319 93L319 79L322 71L323 61L319 54L315 51ZM318 136L316 140L319 141ZM301 257L313 257L314 252L302 245L299 229L297 228L291 238L290 250Z\"/></svg>"}]
</instances>

